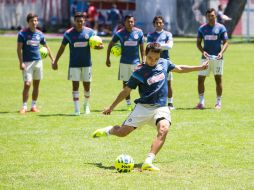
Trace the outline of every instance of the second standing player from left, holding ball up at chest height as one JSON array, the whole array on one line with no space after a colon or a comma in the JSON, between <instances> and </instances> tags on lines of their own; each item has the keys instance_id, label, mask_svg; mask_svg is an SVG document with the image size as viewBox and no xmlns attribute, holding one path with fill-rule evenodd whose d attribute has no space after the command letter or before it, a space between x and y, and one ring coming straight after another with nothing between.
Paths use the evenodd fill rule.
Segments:
<instances>
[{"instance_id":1,"label":"second standing player from left, holding ball up at chest height","mask_svg":"<svg viewBox=\"0 0 254 190\"><path fill-rule=\"evenodd\" d=\"M68 79L72 81L72 97L75 107L75 115L80 115L79 106L79 81L83 82L84 86L84 111L85 114L90 113L89 97L90 83L92 79L92 62L89 46L89 39L95 35L94 30L84 26L85 15L77 12L74 15L74 27L68 29L64 33L62 44L57 52L54 62L54 68L58 68L58 60L63 54L65 47L69 44L70 60ZM103 44L100 44L96 49L102 49Z\"/></svg>"}]
</instances>

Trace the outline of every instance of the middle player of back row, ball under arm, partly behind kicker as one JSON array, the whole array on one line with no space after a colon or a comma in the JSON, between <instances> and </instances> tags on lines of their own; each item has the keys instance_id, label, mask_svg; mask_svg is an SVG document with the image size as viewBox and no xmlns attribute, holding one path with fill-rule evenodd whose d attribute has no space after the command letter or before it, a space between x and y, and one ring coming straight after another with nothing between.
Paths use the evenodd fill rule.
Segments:
<instances>
[{"instance_id":1,"label":"middle player of back row, ball under arm, partly behind kicker","mask_svg":"<svg viewBox=\"0 0 254 190\"><path fill-rule=\"evenodd\" d=\"M124 18L124 27L114 34L107 49L106 65L110 67L110 50L115 43L120 41L122 55L119 65L118 80L123 81L123 88L126 86L133 69L140 63L139 49L141 53L141 61L144 62L145 60L144 35L141 29L134 27L134 23L134 17L126 15ZM126 103L127 109L131 111L132 106L130 96L126 97Z\"/></svg>"}]
</instances>

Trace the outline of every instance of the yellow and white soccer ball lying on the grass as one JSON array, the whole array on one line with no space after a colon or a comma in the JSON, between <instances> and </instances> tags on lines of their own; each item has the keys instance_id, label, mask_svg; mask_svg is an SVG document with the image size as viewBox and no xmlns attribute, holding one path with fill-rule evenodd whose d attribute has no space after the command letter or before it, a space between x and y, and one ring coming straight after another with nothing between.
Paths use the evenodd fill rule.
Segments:
<instances>
[{"instance_id":1,"label":"yellow and white soccer ball lying on the grass","mask_svg":"<svg viewBox=\"0 0 254 190\"><path fill-rule=\"evenodd\" d=\"M116 158L115 168L119 173L128 173L134 167L133 158L127 154L121 154Z\"/></svg>"}]
</instances>

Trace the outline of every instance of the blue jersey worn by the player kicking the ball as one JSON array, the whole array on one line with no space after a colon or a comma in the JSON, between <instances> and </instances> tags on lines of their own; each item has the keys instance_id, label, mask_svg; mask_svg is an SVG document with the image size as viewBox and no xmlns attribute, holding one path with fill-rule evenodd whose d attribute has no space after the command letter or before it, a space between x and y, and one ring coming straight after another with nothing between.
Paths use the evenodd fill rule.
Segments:
<instances>
[{"instance_id":1,"label":"blue jersey worn by the player kicking the ball","mask_svg":"<svg viewBox=\"0 0 254 190\"><path fill-rule=\"evenodd\" d=\"M134 102L163 107L167 103L168 81L167 73L175 65L167 59L159 59L154 67L146 64L138 65L132 73L127 86L131 89L139 88L140 98Z\"/></svg>"}]
</instances>

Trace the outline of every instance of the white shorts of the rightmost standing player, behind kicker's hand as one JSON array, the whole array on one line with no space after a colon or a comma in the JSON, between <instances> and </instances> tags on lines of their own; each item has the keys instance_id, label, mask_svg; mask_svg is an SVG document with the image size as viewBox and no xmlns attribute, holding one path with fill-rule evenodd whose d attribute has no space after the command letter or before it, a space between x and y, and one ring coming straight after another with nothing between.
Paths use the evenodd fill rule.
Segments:
<instances>
[{"instance_id":1,"label":"white shorts of the rightmost standing player, behind kicker's hand","mask_svg":"<svg viewBox=\"0 0 254 190\"><path fill-rule=\"evenodd\" d=\"M202 65L206 59L201 59L200 65ZM208 68L203 71L199 71L198 75L200 76L209 76L210 72L213 72L214 75L222 75L223 74L223 64L224 60L219 59L219 60L210 60Z\"/></svg>"}]
</instances>

